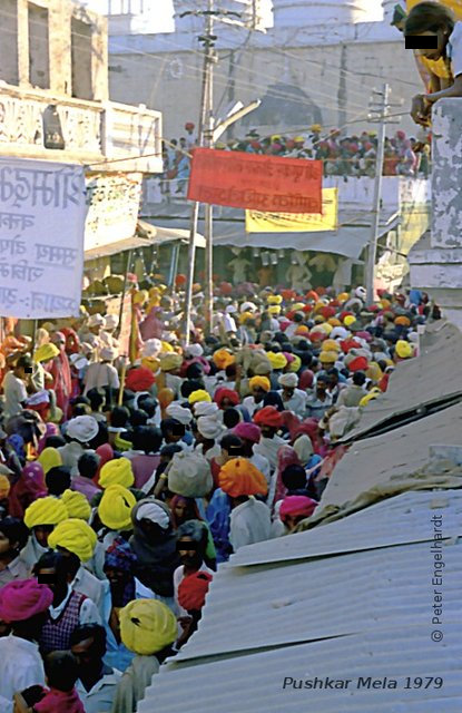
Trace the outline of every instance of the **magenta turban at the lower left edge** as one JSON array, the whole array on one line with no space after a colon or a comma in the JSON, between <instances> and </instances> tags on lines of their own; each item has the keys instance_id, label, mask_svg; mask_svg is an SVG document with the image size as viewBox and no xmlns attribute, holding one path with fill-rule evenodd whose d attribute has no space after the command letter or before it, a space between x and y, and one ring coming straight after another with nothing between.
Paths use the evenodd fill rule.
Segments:
<instances>
[{"instance_id":1,"label":"magenta turban at the lower left edge","mask_svg":"<svg viewBox=\"0 0 462 713\"><path fill-rule=\"evenodd\" d=\"M16 579L0 589L0 619L24 622L51 606L53 593L36 579Z\"/></svg>"}]
</instances>

